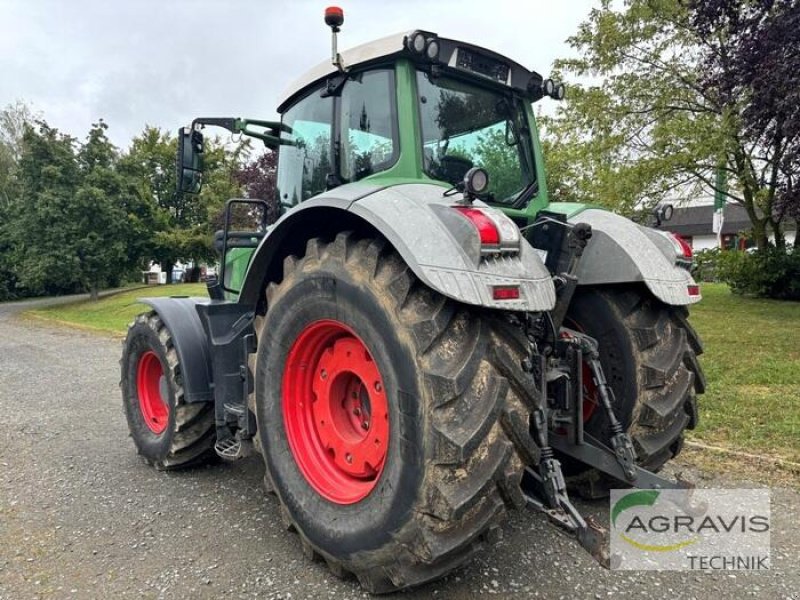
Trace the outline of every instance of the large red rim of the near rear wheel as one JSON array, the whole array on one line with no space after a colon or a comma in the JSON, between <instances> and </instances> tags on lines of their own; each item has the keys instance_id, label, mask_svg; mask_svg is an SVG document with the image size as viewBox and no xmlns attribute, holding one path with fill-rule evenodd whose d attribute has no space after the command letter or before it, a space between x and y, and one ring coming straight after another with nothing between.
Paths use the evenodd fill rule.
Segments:
<instances>
[{"instance_id":1,"label":"large red rim of the near rear wheel","mask_svg":"<svg viewBox=\"0 0 800 600\"><path fill-rule=\"evenodd\" d=\"M308 325L283 373L283 423L295 462L323 498L354 504L378 483L389 448L389 404L378 365L352 329Z\"/></svg>"}]
</instances>

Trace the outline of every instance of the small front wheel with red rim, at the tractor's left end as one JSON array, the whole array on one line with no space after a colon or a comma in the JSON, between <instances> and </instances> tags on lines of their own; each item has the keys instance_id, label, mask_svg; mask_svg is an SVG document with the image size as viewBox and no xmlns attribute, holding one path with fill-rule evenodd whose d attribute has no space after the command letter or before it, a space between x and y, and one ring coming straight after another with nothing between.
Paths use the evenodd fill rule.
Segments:
<instances>
[{"instance_id":1,"label":"small front wheel with red rim, at the tractor's left end","mask_svg":"<svg viewBox=\"0 0 800 600\"><path fill-rule=\"evenodd\" d=\"M172 335L155 311L131 323L120 367L128 428L145 462L171 470L215 458L214 404L186 402Z\"/></svg>"}]
</instances>

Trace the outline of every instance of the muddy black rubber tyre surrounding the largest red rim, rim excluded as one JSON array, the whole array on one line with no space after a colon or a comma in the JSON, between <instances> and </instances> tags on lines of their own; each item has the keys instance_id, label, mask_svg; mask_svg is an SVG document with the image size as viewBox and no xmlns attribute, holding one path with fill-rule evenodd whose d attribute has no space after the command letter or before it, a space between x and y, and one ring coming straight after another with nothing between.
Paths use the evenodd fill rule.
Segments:
<instances>
[{"instance_id":1,"label":"muddy black rubber tyre surrounding the largest red rim, rim excluded","mask_svg":"<svg viewBox=\"0 0 800 600\"><path fill-rule=\"evenodd\" d=\"M349 234L310 240L304 256L286 258L283 280L266 296L256 358L260 445L306 554L383 593L441 577L496 540L506 509L523 503L512 439L528 421L502 376L499 363L520 359L502 328L421 285L384 242ZM326 320L363 341L388 399L383 470L365 497L347 504L309 483L283 414L293 342Z\"/></svg>"}]
</instances>

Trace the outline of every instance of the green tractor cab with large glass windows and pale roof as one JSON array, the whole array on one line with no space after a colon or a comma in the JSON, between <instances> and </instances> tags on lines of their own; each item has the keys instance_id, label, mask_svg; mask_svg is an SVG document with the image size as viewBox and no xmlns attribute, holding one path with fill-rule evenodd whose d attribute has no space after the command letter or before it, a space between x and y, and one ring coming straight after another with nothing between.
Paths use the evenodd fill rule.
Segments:
<instances>
[{"instance_id":1,"label":"green tractor cab with large glass windows and pale roof","mask_svg":"<svg viewBox=\"0 0 800 600\"><path fill-rule=\"evenodd\" d=\"M524 208L543 174L530 104L547 93L562 98L563 85L426 31L336 53L280 99L279 200L359 181L460 187L480 167L486 200Z\"/></svg>"}]
</instances>

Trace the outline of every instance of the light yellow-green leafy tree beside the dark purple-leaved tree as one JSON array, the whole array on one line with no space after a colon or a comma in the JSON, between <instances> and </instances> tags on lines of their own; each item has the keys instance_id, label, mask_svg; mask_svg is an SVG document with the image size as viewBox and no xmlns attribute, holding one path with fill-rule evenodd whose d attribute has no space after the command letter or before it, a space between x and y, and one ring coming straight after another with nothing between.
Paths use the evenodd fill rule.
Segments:
<instances>
[{"instance_id":1,"label":"light yellow-green leafy tree beside the dark purple-leaved tree","mask_svg":"<svg viewBox=\"0 0 800 600\"><path fill-rule=\"evenodd\" d=\"M788 46L794 38L786 35ZM761 176L781 157L763 146L764 136L747 133L749 98L758 90L726 95L712 81L711 65L728 69L713 56L731 52L730 37L703 36L679 0L629 0L619 10L603 0L569 42L579 58L557 61L556 71L592 83L572 86L570 101L542 119L559 199L630 212L678 194L721 191L745 207L759 247L770 232L782 242L778 182ZM722 190L718 171L728 175Z\"/></svg>"}]
</instances>

